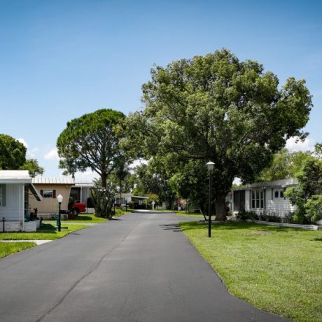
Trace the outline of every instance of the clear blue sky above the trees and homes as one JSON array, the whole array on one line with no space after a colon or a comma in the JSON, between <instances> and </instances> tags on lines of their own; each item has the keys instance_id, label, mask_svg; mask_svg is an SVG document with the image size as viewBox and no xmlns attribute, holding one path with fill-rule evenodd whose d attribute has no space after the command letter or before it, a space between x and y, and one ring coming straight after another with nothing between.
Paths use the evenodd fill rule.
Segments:
<instances>
[{"instance_id":1,"label":"clear blue sky above the trees and homes","mask_svg":"<svg viewBox=\"0 0 322 322\"><path fill-rule=\"evenodd\" d=\"M321 3L0 0L0 133L25 141L44 176L59 176L55 145L67 121L141 109L153 64L226 47L281 84L307 80L314 108L298 148L310 148L322 141Z\"/></svg>"}]
</instances>

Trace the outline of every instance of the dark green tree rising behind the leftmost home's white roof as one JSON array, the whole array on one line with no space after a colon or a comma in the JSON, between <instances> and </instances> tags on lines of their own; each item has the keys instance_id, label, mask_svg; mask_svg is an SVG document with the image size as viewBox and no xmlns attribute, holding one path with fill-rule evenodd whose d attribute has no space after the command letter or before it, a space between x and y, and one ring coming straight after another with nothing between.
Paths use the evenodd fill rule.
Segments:
<instances>
[{"instance_id":1,"label":"dark green tree rising behind the leftmost home's white roof","mask_svg":"<svg viewBox=\"0 0 322 322\"><path fill-rule=\"evenodd\" d=\"M27 148L7 134L0 134L0 169L16 170L26 162Z\"/></svg>"}]
</instances>

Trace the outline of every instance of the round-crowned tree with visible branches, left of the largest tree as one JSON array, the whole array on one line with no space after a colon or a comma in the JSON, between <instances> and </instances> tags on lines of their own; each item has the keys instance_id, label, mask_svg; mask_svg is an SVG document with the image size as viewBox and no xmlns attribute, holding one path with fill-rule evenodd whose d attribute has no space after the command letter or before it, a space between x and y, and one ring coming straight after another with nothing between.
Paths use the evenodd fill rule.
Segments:
<instances>
[{"instance_id":1,"label":"round-crowned tree with visible branches, left of the largest tree","mask_svg":"<svg viewBox=\"0 0 322 322\"><path fill-rule=\"evenodd\" d=\"M112 109L100 109L75 118L57 139L60 167L69 174L90 168L101 177L102 187L122 157L119 126L125 115ZM119 133L118 133L119 132Z\"/></svg>"}]
</instances>

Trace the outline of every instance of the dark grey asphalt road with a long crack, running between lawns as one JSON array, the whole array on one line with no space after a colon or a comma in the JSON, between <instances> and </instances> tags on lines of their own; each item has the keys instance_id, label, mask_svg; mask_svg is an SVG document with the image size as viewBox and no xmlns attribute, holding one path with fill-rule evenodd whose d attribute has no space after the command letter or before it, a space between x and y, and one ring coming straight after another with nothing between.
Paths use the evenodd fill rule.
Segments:
<instances>
[{"instance_id":1,"label":"dark grey asphalt road with a long crack, running between lawns","mask_svg":"<svg viewBox=\"0 0 322 322\"><path fill-rule=\"evenodd\" d=\"M283 321L230 295L174 214L131 214L0 260L0 321Z\"/></svg>"}]
</instances>

